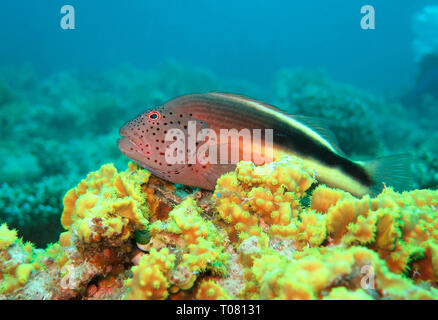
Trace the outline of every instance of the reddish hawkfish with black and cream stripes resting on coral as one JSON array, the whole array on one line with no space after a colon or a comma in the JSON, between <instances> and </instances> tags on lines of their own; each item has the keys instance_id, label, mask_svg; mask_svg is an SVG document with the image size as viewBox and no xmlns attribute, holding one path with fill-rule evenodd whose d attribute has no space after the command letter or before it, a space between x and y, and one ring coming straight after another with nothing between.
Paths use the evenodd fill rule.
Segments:
<instances>
[{"instance_id":1,"label":"reddish hawkfish with black and cream stripes resting on coral","mask_svg":"<svg viewBox=\"0 0 438 320\"><path fill-rule=\"evenodd\" d=\"M220 138L208 136L190 143L203 130L214 132ZM262 132L262 136L248 147L242 139L234 142L222 139L221 130L249 130ZM258 159L259 165L283 155L300 158L305 166L313 168L320 183L357 197L375 195L384 186L396 189L409 186L409 155L351 160L321 119L289 115L269 104L234 94L210 92L177 97L127 122L119 134L122 137L117 142L120 151L154 175L172 183L207 190L214 190L216 180L233 171L240 160ZM255 142L261 142L262 146L256 147ZM176 143L182 147L175 149ZM227 156L232 148L238 150L238 157L230 161L228 155L226 160L229 161L225 163L193 161L202 146L204 150L212 146L221 150L217 154L212 152L213 160ZM207 158L211 149L208 150ZM180 160L169 161L169 152L173 156L180 154Z\"/></svg>"}]
</instances>

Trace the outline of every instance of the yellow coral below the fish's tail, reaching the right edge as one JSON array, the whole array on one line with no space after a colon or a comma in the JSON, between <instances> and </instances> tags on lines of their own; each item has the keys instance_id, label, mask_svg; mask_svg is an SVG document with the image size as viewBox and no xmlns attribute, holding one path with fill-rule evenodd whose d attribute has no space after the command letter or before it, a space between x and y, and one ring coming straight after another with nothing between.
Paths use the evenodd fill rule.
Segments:
<instances>
[{"instance_id":1,"label":"yellow coral below the fish's tail, reaching the right edge","mask_svg":"<svg viewBox=\"0 0 438 320\"><path fill-rule=\"evenodd\" d=\"M428 241L438 243L438 213L434 209L438 195L421 191L397 193L387 188L374 199L339 200L327 210L327 232L335 244L367 245L385 258L391 271L407 271L424 253L426 260L430 258ZM421 262L413 266L420 274L425 268ZM433 272L423 274L428 275L427 280L437 279Z\"/></svg>"}]
</instances>

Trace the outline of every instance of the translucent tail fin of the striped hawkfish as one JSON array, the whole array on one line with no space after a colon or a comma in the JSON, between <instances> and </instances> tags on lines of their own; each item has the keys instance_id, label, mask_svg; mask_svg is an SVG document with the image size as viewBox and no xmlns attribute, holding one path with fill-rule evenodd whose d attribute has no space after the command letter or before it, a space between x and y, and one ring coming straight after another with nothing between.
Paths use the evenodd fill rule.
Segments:
<instances>
[{"instance_id":1,"label":"translucent tail fin of the striped hawkfish","mask_svg":"<svg viewBox=\"0 0 438 320\"><path fill-rule=\"evenodd\" d=\"M412 188L411 163L412 156L409 154L386 156L365 162L365 170L375 181L370 187L371 196L379 194L385 186L391 186L396 191Z\"/></svg>"}]
</instances>

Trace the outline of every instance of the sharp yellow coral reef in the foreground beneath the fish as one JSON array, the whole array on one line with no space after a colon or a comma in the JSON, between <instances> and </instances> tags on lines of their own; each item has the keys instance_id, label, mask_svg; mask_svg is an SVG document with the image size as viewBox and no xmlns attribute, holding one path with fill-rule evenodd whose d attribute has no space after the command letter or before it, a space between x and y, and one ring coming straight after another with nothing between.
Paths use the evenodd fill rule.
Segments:
<instances>
[{"instance_id":1,"label":"sharp yellow coral reef in the foreground beneath the fish","mask_svg":"<svg viewBox=\"0 0 438 320\"><path fill-rule=\"evenodd\" d=\"M0 226L0 299L437 299L437 208L427 189L358 199L290 156L214 192L107 164L66 193L58 243Z\"/></svg>"}]
</instances>

